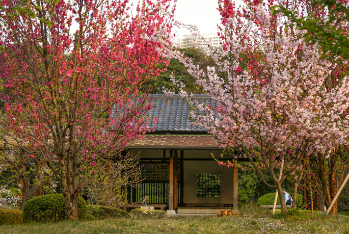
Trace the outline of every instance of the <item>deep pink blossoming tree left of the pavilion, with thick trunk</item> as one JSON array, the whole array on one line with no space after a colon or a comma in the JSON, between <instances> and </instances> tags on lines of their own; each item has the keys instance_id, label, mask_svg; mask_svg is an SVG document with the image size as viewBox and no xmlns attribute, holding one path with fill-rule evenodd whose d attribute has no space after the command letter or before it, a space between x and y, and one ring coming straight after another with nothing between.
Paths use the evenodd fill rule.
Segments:
<instances>
[{"instance_id":1,"label":"deep pink blossoming tree left of the pavilion, with thick trunk","mask_svg":"<svg viewBox=\"0 0 349 234\"><path fill-rule=\"evenodd\" d=\"M39 4L38 19L0 19L0 57L10 60L1 70L5 124L26 157L46 161L75 221L84 165L97 166L144 130L151 105L138 89L166 70L155 66L166 62L160 51L174 8L170 0L142 1L133 13L127 0Z\"/></svg>"}]
</instances>

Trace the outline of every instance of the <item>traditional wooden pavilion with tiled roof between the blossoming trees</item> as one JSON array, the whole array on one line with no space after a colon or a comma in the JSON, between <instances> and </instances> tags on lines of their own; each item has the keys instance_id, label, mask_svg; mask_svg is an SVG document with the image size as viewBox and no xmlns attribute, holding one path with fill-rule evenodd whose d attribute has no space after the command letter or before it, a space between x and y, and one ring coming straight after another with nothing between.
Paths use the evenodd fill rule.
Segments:
<instances>
[{"instance_id":1,"label":"traditional wooden pavilion with tiled roof between the blossoming trees","mask_svg":"<svg viewBox=\"0 0 349 234\"><path fill-rule=\"evenodd\" d=\"M185 100L179 95L150 97L156 107L147 117L149 127L158 117L156 130L127 146L140 153L144 179L139 188L128 188L128 201L138 202L147 196L149 204L162 210L167 206L169 210L237 207L237 167L220 166L213 160L212 154L218 158L223 149L204 128L192 124ZM205 95L194 97L211 102Z\"/></svg>"}]
</instances>

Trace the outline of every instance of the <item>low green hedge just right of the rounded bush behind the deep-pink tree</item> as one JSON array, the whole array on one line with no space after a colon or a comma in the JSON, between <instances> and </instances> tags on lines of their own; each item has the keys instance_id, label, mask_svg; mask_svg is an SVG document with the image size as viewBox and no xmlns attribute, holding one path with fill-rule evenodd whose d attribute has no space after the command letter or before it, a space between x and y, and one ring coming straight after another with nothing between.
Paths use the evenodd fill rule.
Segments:
<instances>
[{"instance_id":1,"label":"low green hedge just right of the rounded bush behind the deep-pink tree","mask_svg":"<svg viewBox=\"0 0 349 234\"><path fill-rule=\"evenodd\" d=\"M126 211L108 206L88 205L86 210L86 220L125 218L128 216Z\"/></svg>"}]
</instances>

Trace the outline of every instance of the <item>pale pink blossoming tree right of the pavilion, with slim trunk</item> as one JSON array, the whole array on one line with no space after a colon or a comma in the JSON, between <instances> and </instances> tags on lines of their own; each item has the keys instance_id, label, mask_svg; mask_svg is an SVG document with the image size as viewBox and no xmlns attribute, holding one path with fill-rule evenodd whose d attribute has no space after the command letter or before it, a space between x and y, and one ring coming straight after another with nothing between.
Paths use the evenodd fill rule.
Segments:
<instances>
[{"instance_id":1,"label":"pale pink blossoming tree right of the pavilion, with slim trunk","mask_svg":"<svg viewBox=\"0 0 349 234\"><path fill-rule=\"evenodd\" d=\"M187 66L212 99L199 103L182 90L194 124L206 127L236 157L248 158L265 185L277 189L287 213L281 186L286 176L301 169L309 155L328 157L335 145L347 144L348 81L346 76L334 83L331 79L341 58L326 59L316 43L303 39L305 31L270 10L276 4L302 14L304 1L245 0L244 7L230 0L219 3L223 42L221 48L210 48L218 69L204 72L179 51L169 50L168 56ZM285 169L279 180L276 169L282 159ZM266 182L261 167L274 184Z\"/></svg>"}]
</instances>

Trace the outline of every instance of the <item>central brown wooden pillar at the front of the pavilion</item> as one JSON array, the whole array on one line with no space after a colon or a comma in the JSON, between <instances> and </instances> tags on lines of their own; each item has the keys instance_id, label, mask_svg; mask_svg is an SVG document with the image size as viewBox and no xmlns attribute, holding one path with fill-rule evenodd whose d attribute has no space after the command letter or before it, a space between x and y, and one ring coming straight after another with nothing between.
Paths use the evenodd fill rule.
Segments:
<instances>
[{"instance_id":1,"label":"central brown wooden pillar at the front of the pavilion","mask_svg":"<svg viewBox=\"0 0 349 234\"><path fill-rule=\"evenodd\" d=\"M169 210L177 207L177 150L170 150Z\"/></svg>"}]
</instances>

